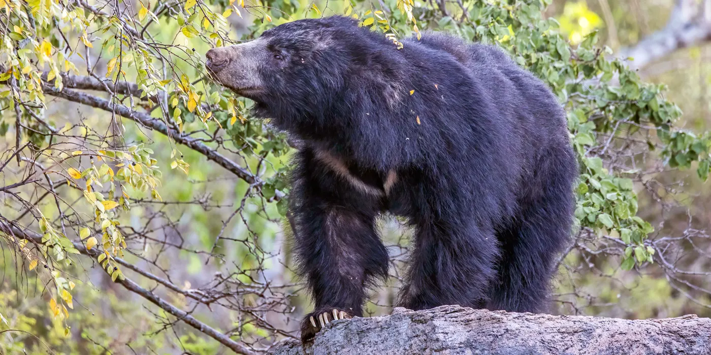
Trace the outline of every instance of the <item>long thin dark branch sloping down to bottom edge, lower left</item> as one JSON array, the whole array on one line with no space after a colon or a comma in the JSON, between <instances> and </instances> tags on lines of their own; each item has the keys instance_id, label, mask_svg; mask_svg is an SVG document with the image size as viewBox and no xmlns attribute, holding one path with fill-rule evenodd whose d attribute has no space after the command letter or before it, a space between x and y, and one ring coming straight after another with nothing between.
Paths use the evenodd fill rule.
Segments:
<instances>
[{"instance_id":1,"label":"long thin dark branch sloping down to bottom edge, lower left","mask_svg":"<svg viewBox=\"0 0 711 355\"><path fill-rule=\"evenodd\" d=\"M10 236L14 236L18 239L26 239L28 241L33 241L36 244L42 244L42 236L40 234L37 234L34 231L21 229L18 226L15 226L13 224L10 224L10 222L6 222L3 220L0 220L0 232ZM100 252L97 251L97 249L87 250L82 244L72 244L74 245L75 249L77 249L80 253L84 255L91 256L92 258L97 258L97 256L100 255ZM209 337L217 340L218 342L220 342L220 344L227 346L229 349L232 349L232 351L235 351L237 354L256 355L254 351L247 349L246 346L235 342L234 340L230 339L230 337L221 332L218 332L217 329L210 327L208 324L196 320L192 315L188 314L188 312L178 309L177 307L166 302L161 297L158 297L151 291L146 290L145 288L141 288L141 286L139 286L137 283L134 283L132 280L129 280L129 278L124 278L124 280L117 278L116 282L124 286L124 288L131 291L132 293L136 293L137 295L144 297L146 300L149 300L154 305L161 307L161 309L177 317L178 320L186 322L191 327L198 329L199 332L203 332L203 334L206 334Z\"/></svg>"}]
</instances>

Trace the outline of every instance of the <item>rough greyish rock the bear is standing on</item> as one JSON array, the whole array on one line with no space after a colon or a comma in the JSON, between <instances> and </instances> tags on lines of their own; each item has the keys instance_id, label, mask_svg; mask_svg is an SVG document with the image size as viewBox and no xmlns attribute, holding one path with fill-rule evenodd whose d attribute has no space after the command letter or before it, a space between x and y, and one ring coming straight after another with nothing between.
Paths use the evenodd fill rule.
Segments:
<instances>
[{"instance_id":1,"label":"rough greyish rock the bear is standing on","mask_svg":"<svg viewBox=\"0 0 711 355\"><path fill-rule=\"evenodd\" d=\"M291 340L272 354L711 354L711 319L665 320L533 315L442 306L338 320L311 344Z\"/></svg>"}]
</instances>

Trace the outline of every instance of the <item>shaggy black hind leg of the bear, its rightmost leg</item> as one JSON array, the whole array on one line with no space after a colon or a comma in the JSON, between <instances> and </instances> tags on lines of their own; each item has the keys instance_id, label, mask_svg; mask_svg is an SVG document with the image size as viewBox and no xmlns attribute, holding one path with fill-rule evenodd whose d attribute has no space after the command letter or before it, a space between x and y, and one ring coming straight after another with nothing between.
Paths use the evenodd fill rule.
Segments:
<instances>
[{"instance_id":1,"label":"shaggy black hind leg of the bear, its rightmost leg","mask_svg":"<svg viewBox=\"0 0 711 355\"><path fill-rule=\"evenodd\" d=\"M551 173L539 175L543 177L540 181L545 181L542 189L521 204L513 225L497 234L501 259L487 305L490 310L547 310L550 280L560 251L568 246L572 234L574 165L560 162L555 168L547 167Z\"/></svg>"}]
</instances>

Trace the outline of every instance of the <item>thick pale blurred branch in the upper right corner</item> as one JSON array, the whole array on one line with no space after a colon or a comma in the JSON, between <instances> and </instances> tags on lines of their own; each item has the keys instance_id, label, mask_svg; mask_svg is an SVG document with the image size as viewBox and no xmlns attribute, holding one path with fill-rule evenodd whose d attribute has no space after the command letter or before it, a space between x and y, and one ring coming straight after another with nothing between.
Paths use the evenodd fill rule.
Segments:
<instances>
[{"instance_id":1,"label":"thick pale blurred branch in the upper right corner","mask_svg":"<svg viewBox=\"0 0 711 355\"><path fill-rule=\"evenodd\" d=\"M666 26L636 45L619 51L619 58L634 58L631 69L641 68L680 48L711 41L711 0L678 0Z\"/></svg>"}]
</instances>

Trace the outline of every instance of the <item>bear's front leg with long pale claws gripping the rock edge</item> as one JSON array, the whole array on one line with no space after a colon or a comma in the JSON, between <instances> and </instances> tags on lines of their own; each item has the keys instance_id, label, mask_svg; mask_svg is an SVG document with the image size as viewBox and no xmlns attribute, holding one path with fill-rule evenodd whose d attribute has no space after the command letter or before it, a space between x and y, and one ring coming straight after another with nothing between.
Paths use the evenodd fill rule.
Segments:
<instances>
[{"instance_id":1,"label":"bear's front leg with long pale claws gripping the rock edge","mask_svg":"<svg viewBox=\"0 0 711 355\"><path fill-rule=\"evenodd\" d=\"M315 304L301 323L304 341L328 322L362 316L367 288L387 277L375 212L336 206L319 193L296 193L293 210L296 261Z\"/></svg>"}]
</instances>

